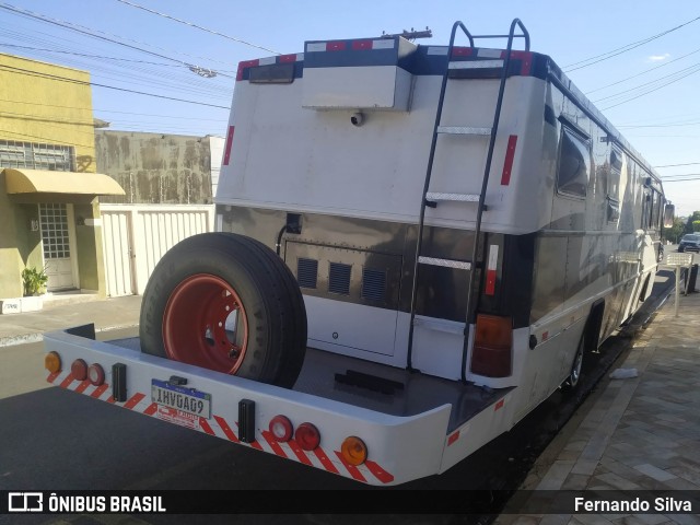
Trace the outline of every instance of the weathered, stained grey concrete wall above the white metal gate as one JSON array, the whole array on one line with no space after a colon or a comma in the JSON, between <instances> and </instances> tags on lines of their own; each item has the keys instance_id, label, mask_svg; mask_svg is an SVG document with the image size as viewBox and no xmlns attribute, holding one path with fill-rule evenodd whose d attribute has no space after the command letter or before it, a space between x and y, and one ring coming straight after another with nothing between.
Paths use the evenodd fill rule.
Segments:
<instances>
[{"instance_id":1,"label":"weathered, stained grey concrete wall above the white metal gate","mask_svg":"<svg viewBox=\"0 0 700 525\"><path fill-rule=\"evenodd\" d=\"M97 171L117 180L124 197L102 202L210 205L209 137L95 130ZM215 159L217 163L221 159Z\"/></svg>"}]
</instances>

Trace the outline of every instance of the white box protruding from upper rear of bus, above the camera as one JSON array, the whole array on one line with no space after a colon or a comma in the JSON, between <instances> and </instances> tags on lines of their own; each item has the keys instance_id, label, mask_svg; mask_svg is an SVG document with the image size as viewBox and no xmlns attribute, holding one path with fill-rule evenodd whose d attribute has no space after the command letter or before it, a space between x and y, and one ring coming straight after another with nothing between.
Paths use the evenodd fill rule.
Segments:
<instances>
[{"instance_id":1,"label":"white box protruding from upper rear of bus, above the camera","mask_svg":"<svg viewBox=\"0 0 700 525\"><path fill-rule=\"evenodd\" d=\"M408 110L412 75L405 66L417 47L400 36L306 42L302 106Z\"/></svg>"}]
</instances>

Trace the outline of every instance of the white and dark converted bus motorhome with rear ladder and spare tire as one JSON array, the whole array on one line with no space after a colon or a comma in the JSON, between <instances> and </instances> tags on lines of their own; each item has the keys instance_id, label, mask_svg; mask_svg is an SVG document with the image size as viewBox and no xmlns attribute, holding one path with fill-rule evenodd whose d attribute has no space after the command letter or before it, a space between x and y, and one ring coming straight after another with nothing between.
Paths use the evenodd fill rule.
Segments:
<instances>
[{"instance_id":1,"label":"white and dark converted bus motorhome with rear ladder and spare tire","mask_svg":"<svg viewBox=\"0 0 700 525\"><path fill-rule=\"evenodd\" d=\"M518 20L505 37L242 62L217 233L163 257L136 340L48 335L49 381L382 486L574 388L651 292L664 192Z\"/></svg>"}]
</instances>

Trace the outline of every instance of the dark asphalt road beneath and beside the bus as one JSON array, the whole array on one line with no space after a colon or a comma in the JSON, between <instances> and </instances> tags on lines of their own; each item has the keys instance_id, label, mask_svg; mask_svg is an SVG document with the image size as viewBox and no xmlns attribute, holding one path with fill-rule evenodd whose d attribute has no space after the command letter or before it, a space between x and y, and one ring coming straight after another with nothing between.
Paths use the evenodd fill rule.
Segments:
<instances>
[{"instance_id":1,"label":"dark asphalt road beneath and beside the bus","mask_svg":"<svg viewBox=\"0 0 700 525\"><path fill-rule=\"evenodd\" d=\"M667 277L662 276L661 281L668 282ZM102 332L98 338L108 340L133 335L135 329ZM600 354L587 362L585 381L578 396L556 393L511 432L447 472L397 487L397 491L514 490L540 452L574 416L575 408L629 343L627 337L606 342ZM318 497L315 491L377 490L49 387L44 381L43 358L40 343L0 349L0 422L3 422L0 424L0 489L240 491L293 488L314 491L306 492L311 494L310 509L313 509L313 498ZM235 492L232 494L235 497ZM494 512L502 503L493 503ZM22 523L114 523L108 522L108 517L91 516L90 520L97 521L85 522L86 516L27 516ZM389 515L376 516L376 522L363 518L363 523L467 523L464 518ZM192 516L178 521L172 515L141 515L130 523L194 523L194 520ZM212 522L207 520L207 523ZM255 520L248 516L241 523L279 523L279 516L255 516ZM285 523L316 525L341 521L338 516L305 514Z\"/></svg>"}]
</instances>

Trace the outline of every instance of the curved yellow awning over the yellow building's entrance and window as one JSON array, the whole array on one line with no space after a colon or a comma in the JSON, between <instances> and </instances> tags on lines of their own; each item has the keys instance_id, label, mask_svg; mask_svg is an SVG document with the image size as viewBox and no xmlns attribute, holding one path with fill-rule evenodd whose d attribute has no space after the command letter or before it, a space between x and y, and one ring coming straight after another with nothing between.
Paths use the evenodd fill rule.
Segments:
<instances>
[{"instance_id":1,"label":"curved yellow awning over the yellow building's entrance and window","mask_svg":"<svg viewBox=\"0 0 700 525\"><path fill-rule=\"evenodd\" d=\"M101 173L3 170L8 194L126 195L119 183Z\"/></svg>"}]
</instances>

